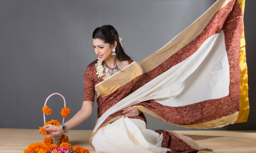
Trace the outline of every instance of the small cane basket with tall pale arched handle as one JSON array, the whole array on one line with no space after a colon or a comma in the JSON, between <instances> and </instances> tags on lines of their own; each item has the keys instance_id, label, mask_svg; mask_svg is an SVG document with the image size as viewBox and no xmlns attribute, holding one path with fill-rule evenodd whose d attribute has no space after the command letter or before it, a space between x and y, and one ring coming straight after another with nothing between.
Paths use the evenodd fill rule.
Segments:
<instances>
[{"instance_id":1,"label":"small cane basket with tall pale arched handle","mask_svg":"<svg viewBox=\"0 0 256 153\"><path fill-rule=\"evenodd\" d=\"M63 100L64 100L64 107L66 107L65 98L64 98L61 94L59 94L59 93L53 93L53 94L49 95L49 96L47 97L47 99L46 99L46 103L47 103L47 100L48 100L52 95L55 95L55 94L60 95L60 96L63 98ZM46 103L45 103L45 106L46 106ZM64 119L65 119L65 118L63 117L62 124L64 123ZM44 113L44 122L46 123L45 113ZM61 143L61 138L62 138L63 134L59 134L59 135L46 135L46 137L47 137L47 136L51 137L51 139L52 139L52 144L56 144L56 145L59 146L60 143Z\"/></svg>"}]
</instances>

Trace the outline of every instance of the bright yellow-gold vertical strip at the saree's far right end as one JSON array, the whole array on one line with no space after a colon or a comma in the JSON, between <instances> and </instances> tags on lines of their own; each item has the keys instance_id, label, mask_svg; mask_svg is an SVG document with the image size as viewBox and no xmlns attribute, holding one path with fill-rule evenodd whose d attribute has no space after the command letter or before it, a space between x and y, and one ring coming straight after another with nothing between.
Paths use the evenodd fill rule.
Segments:
<instances>
[{"instance_id":1,"label":"bright yellow-gold vertical strip at the saree's far right end","mask_svg":"<svg viewBox=\"0 0 256 153\"><path fill-rule=\"evenodd\" d=\"M244 18L244 6L245 0L238 0L239 5L243 12ZM244 23L243 23L243 32L241 36L240 42L240 69L241 69L241 82L240 82L240 112L239 117L236 123L246 122L249 115L249 98L248 98L248 72L247 72L247 64L245 57L245 36L244 36Z\"/></svg>"}]
</instances>

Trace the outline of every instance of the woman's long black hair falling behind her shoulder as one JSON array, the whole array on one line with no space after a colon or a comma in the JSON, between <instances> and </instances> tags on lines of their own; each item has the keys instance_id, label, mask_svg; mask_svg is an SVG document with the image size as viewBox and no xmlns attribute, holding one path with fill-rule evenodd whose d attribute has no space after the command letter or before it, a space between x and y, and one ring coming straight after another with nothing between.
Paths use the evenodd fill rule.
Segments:
<instances>
[{"instance_id":1,"label":"woman's long black hair falling behind her shoulder","mask_svg":"<svg viewBox=\"0 0 256 153\"><path fill-rule=\"evenodd\" d=\"M119 42L119 35L116 29L112 25L103 25L102 27L98 27L93 31L93 39L101 39L104 43L109 43L110 47L117 42L116 46L116 56L114 60L114 66L116 67L117 59L119 61L131 60L131 58L125 54L123 47ZM88 66L97 63L98 59L90 63Z\"/></svg>"}]
</instances>

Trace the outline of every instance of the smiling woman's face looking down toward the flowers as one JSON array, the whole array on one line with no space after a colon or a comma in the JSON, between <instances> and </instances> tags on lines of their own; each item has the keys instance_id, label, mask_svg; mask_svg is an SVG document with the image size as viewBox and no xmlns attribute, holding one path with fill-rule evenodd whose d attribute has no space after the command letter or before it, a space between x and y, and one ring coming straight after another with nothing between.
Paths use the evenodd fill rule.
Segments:
<instances>
[{"instance_id":1,"label":"smiling woman's face looking down toward the flowers","mask_svg":"<svg viewBox=\"0 0 256 153\"><path fill-rule=\"evenodd\" d=\"M110 47L109 43L104 43L101 39L93 39L93 47L95 54L98 55L100 61L105 61L112 56L112 49L115 48L115 43L113 47Z\"/></svg>"}]
</instances>

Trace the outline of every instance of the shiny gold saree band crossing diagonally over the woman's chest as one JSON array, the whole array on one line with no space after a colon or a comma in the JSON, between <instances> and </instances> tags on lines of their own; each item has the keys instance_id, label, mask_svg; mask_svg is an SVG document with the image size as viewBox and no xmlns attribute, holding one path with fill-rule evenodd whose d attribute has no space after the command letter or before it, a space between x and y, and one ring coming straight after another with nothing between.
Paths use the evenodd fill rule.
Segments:
<instances>
[{"instance_id":1,"label":"shiny gold saree band crossing diagonally over the woman's chest","mask_svg":"<svg viewBox=\"0 0 256 153\"><path fill-rule=\"evenodd\" d=\"M112 77L95 86L96 97L106 96L115 92L118 88L132 81L142 74L142 69L137 62L133 62Z\"/></svg>"}]
</instances>

